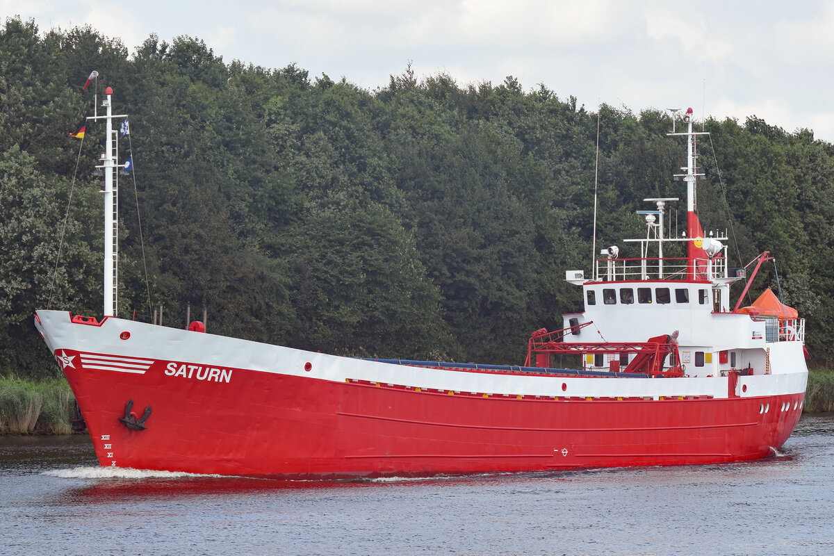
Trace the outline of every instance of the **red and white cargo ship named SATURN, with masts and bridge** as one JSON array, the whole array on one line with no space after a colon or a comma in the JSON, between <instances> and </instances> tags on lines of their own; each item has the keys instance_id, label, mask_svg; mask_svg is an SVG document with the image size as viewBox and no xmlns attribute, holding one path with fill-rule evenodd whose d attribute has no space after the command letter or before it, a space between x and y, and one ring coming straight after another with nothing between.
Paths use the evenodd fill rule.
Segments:
<instances>
[{"instance_id":1,"label":"red and white cargo ship named SATURN, with masts and bridge","mask_svg":"<svg viewBox=\"0 0 834 556\"><path fill-rule=\"evenodd\" d=\"M769 256L728 268L726 234L701 228L691 108L671 133L686 141L686 232L664 231L678 199L646 199L646 237L625 240L639 256L610 246L587 275L565 271L584 310L532 333L515 366L342 357L119 318L124 116L111 98L95 117L107 125L103 315L35 316L103 466L360 478L738 462L770 456L800 418L805 321L770 290L741 307L744 288L731 307L731 285Z\"/></svg>"}]
</instances>

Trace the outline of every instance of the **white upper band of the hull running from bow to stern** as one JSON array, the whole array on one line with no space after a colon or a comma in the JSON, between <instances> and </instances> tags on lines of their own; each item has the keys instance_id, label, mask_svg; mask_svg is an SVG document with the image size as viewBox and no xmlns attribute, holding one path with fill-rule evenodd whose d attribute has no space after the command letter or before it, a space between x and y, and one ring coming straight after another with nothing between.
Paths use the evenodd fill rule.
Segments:
<instances>
[{"instance_id":1,"label":"white upper band of the hull running from bow to stern","mask_svg":"<svg viewBox=\"0 0 834 556\"><path fill-rule=\"evenodd\" d=\"M582 378L530 374L471 372L445 368L412 367L314 353L238 338L196 333L178 328L108 318L100 326L72 323L65 311L38 311L38 328L48 346L98 355L87 368L99 365L119 372L140 373L153 360L203 366L240 368L306 378L344 382L346 378L404 384L440 391L480 392L497 395L529 395L571 398L728 397L726 377L698 378ZM129 332L129 339L120 334ZM83 355L86 359L88 356ZM106 361L106 363L105 363ZM142 362L133 364L125 362ZM308 364L309 363L309 364ZM804 359L796 372L738 377L740 397L804 393L807 370ZM306 370L309 368L310 370ZM746 388L744 388L746 386Z\"/></svg>"}]
</instances>

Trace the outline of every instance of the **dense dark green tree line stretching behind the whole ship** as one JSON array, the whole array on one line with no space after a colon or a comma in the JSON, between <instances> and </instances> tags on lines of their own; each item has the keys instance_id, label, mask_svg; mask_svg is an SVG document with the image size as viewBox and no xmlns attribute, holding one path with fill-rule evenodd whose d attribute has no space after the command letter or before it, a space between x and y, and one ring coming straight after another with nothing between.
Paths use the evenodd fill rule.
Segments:
<instances>
[{"instance_id":1,"label":"dense dark green tree line stretching behind the whole ship","mask_svg":"<svg viewBox=\"0 0 834 556\"><path fill-rule=\"evenodd\" d=\"M520 363L532 330L580 307L579 288L563 278L590 269L597 117L598 248L645 233L635 214L649 208L643 198L685 196L671 180L685 146L654 110L591 113L511 77L461 86L442 73L418 81L410 68L367 91L294 64L224 63L196 38L151 36L130 55L92 28L39 33L33 21L8 19L5 372L55 372L35 308L101 313L93 169L103 125L91 124L83 142L68 137L93 112L93 86L81 90L93 69L99 95L113 87L117 112L131 114L121 149L133 156L140 207L133 176L122 177L125 318L150 320L161 304L165 324L185 326L190 303L193 314L208 308L214 333L331 353ZM831 360L831 144L755 117L706 129L705 228L732 228L733 266L765 249L776 256L786 302L808 319L811 353ZM754 295L766 286L776 289L772 266Z\"/></svg>"}]
</instances>

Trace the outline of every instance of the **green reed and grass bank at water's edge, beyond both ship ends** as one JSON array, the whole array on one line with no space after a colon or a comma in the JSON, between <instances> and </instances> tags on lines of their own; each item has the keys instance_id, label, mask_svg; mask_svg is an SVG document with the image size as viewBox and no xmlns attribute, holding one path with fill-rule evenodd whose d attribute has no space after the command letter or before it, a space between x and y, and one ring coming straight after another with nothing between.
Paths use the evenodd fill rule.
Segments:
<instances>
[{"instance_id":1,"label":"green reed and grass bank at water's edge, beyond both ship ends","mask_svg":"<svg viewBox=\"0 0 834 556\"><path fill-rule=\"evenodd\" d=\"M0 377L0 434L71 434L75 398L64 378ZM834 411L834 369L811 369L803 412Z\"/></svg>"}]
</instances>

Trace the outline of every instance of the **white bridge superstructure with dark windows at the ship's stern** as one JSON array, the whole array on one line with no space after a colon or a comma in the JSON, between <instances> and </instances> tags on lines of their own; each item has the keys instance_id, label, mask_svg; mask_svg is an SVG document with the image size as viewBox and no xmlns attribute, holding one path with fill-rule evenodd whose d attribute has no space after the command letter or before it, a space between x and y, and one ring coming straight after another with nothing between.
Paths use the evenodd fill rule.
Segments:
<instances>
[{"instance_id":1,"label":"white bridge superstructure with dark windows at the ship's stern","mask_svg":"<svg viewBox=\"0 0 834 556\"><path fill-rule=\"evenodd\" d=\"M639 256L621 257L620 248L612 245L595 258L593 278L585 278L581 270L565 273L567 282L582 287L585 310L564 315L569 332L563 342L646 342L646 338L676 333L686 376L713 376L742 368L750 373L770 373L771 360L786 351L780 345L791 353L801 353L805 321L775 297L773 307L763 310L758 306L761 300L748 308L731 306L731 284L745 279L747 269L728 267L726 231L704 233L695 219L689 233L666 238L666 203L677 199L645 200L656 203L656 210L638 211L646 217L646 237L625 240L632 246L629 251L639 248L635 253ZM687 256L666 257L664 248L673 250L670 243L676 244L674 251L682 250ZM751 278L762 261L771 260L767 255L762 253L758 258ZM740 298L745 293L746 288ZM584 364L601 370L614 361L621 368L631 357L633 354L621 353L619 358L595 354Z\"/></svg>"}]
</instances>

